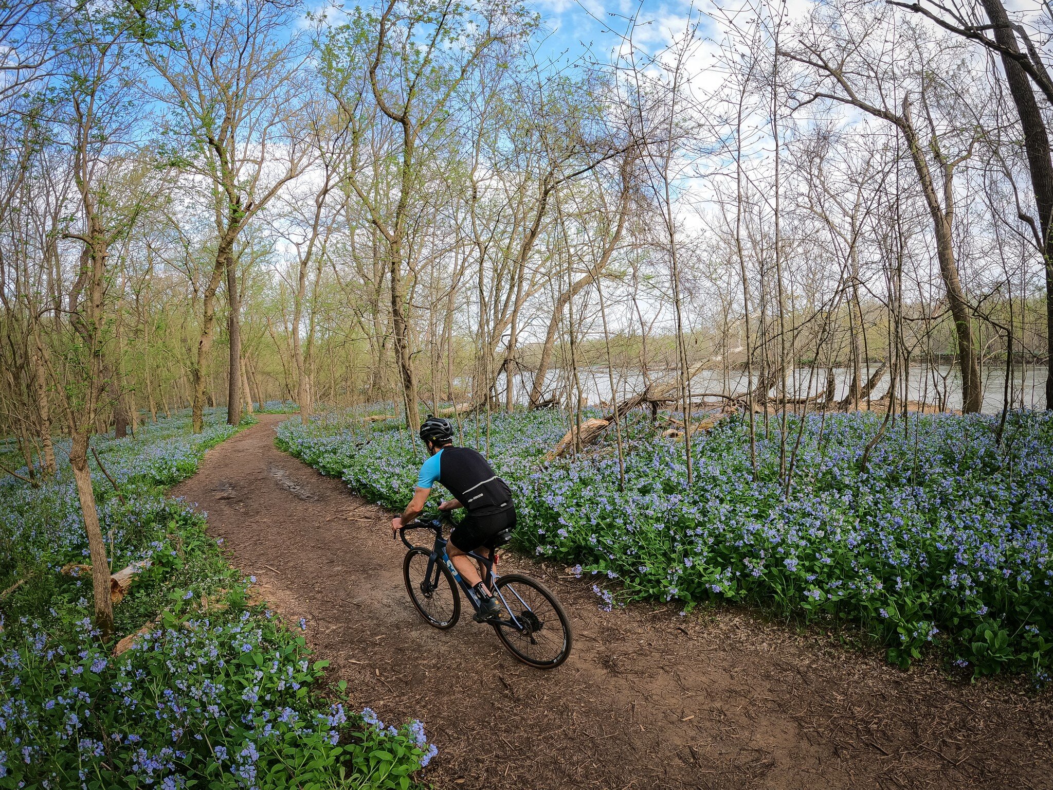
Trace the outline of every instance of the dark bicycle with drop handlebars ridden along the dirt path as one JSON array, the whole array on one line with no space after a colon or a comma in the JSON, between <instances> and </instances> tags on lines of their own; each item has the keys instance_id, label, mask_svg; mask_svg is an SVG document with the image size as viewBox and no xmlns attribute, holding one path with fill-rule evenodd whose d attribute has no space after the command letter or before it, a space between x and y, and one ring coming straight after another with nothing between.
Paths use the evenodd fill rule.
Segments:
<instances>
[{"instance_id":1,"label":"dark bicycle with drop handlebars ridden along the dirt path","mask_svg":"<svg viewBox=\"0 0 1053 790\"><path fill-rule=\"evenodd\" d=\"M410 599L429 625L445 631L457 625L460 618L458 587L463 590L476 612L479 612L481 605L475 591L457 572L446 554L446 538L442 536L443 520L417 520L402 527L398 533L409 549L402 562L402 575ZM435 533L435 546L432 549L414 546L405 539L405 531L416 529L428 529ZM500 532L496 536L495 547L503 546L511 539L511 530ZM483 621L494 627L504 647L516 658L532 667L555 669L565 661L571 654L574 636L563 607L556 596L540 581L524 574L498 576L494 571L496 548L494 559L474 551L469 552L468 556L481 561L486 568L483 581L494 591L502 612L496 619ZM505 614L508 617L503 616Z\"/></svg>"}]
</instances>

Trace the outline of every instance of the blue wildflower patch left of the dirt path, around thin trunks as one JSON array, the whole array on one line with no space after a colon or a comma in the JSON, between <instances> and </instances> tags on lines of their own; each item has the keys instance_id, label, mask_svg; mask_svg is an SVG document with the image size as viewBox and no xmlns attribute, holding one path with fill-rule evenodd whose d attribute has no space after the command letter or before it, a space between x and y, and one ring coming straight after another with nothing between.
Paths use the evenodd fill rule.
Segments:
<instances>
[{"instance_id":1,"label":"blue wildflower patch left of the dirt path, around thin trunks","mask_svg":"<svg viewBox=\"0 0 1053 790\"><path fill-rule=\"evenodd\" d=\"M434 756L419 722L334 702L305 624L252 606L255 579L164 497L237 430L222 416L198 436L181 415L93 440L120 492L93 467L113 568L148 564L114 609L118 636L147 627L120 655L92 629L90 577L59 570L88 554L68 470L0 478L0 590L22 581L0 599L0 788L405 790Z\"/></svg>"}]
</instances>

